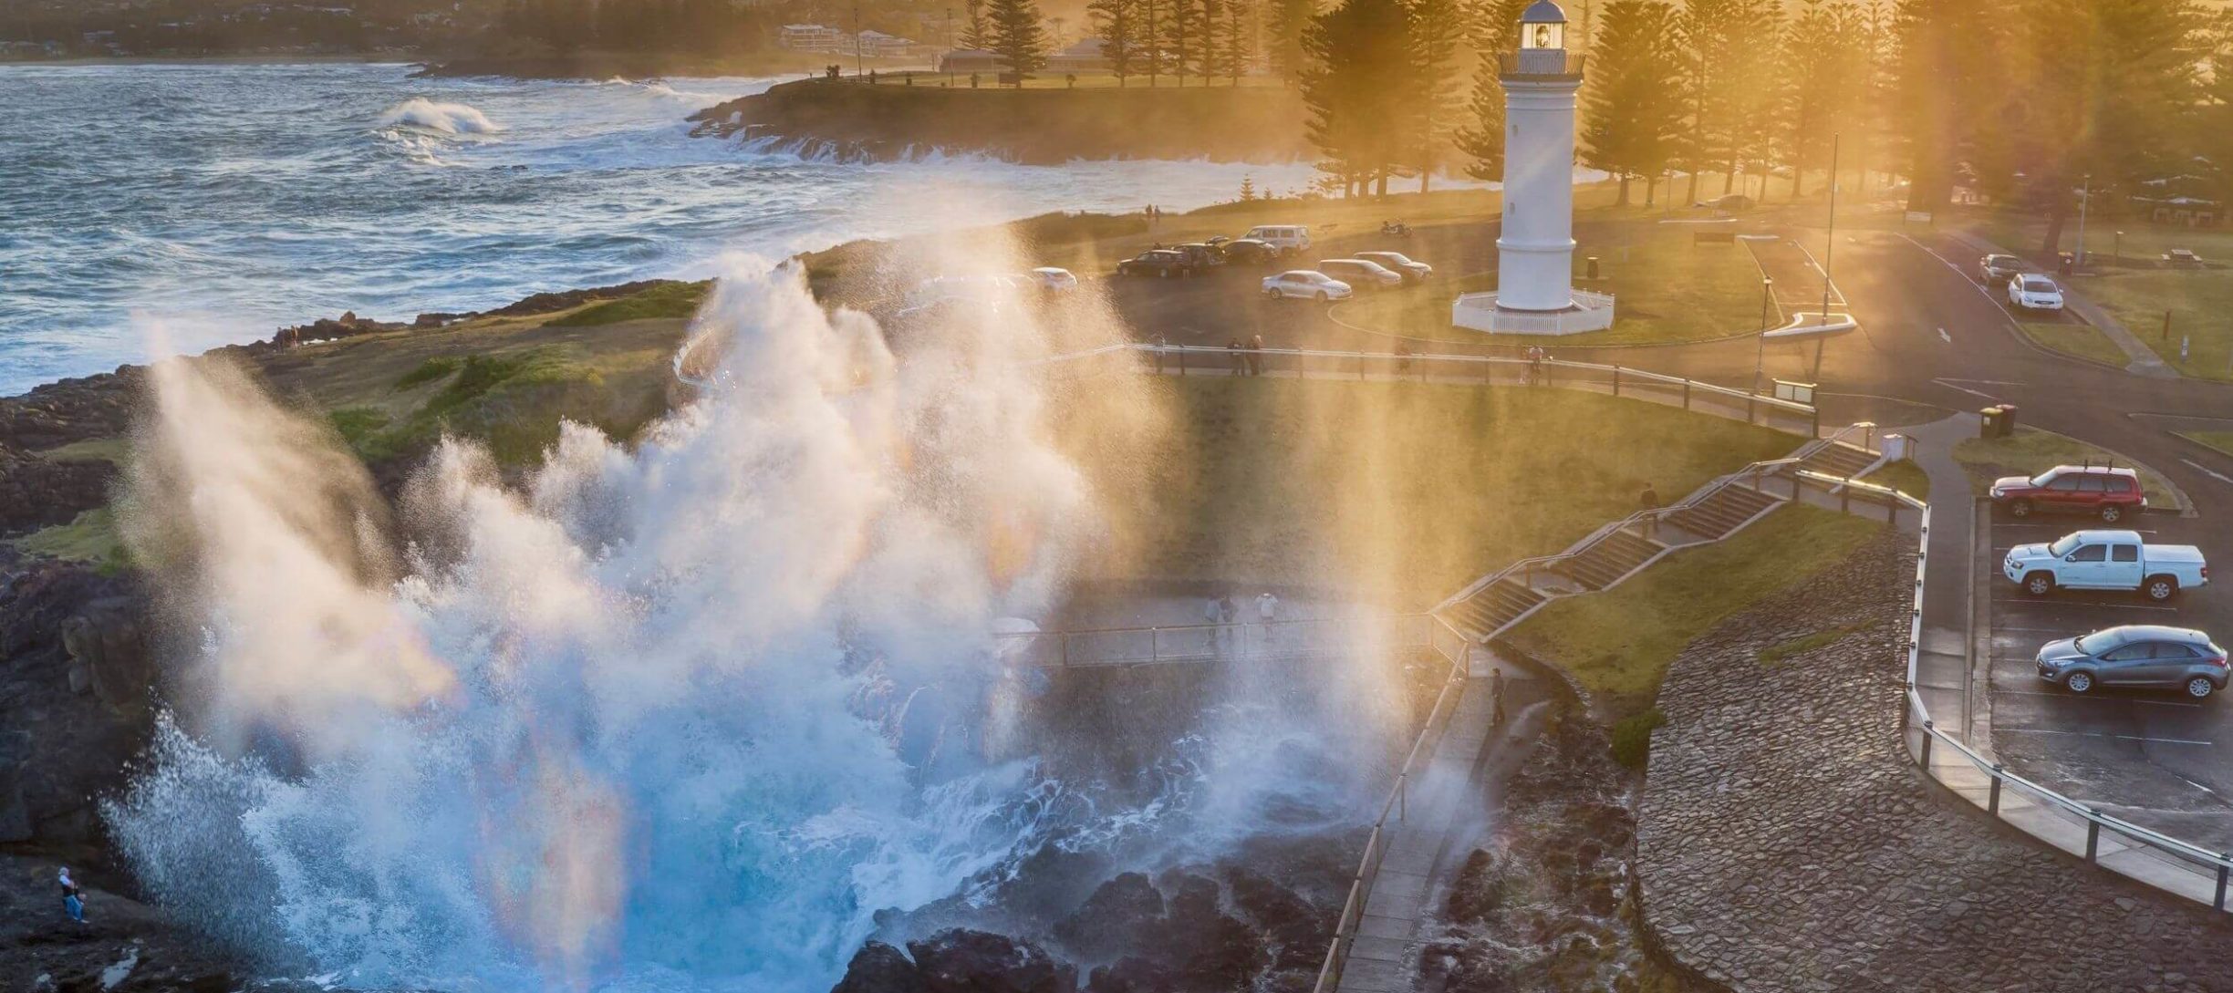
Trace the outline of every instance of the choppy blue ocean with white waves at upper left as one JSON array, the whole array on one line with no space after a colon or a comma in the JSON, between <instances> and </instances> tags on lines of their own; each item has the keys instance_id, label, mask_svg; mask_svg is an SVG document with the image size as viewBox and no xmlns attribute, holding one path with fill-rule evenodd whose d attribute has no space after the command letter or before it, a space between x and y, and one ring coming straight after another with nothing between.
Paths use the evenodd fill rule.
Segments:
<instances>
[{"instance_id":1,"label":"choppy blue ocean with white waves at upper left","mask_svg":"<svg viewBox=\"0 0 2233 993\"><path fill-rule=\"evenodd\" d=\"M355 310L706 277L940 223L1188 210L1306 163L840 163L690 138L768 78L411 78L411 65L0 65L0 395ZM953 205L967 203L956 219Z\"/></svg>"}]
</instances>

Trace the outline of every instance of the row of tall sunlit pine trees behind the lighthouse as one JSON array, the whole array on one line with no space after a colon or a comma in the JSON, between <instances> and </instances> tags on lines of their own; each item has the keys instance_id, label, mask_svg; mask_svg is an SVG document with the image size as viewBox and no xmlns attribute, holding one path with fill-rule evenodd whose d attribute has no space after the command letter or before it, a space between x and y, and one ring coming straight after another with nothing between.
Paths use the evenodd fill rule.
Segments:
<instances>
[{"instance_id":1,"label":"row of tall sunlit pine trees behind the lighthouse","mask_svg":"<svg viewBox=\"0 0 2233 993\"><path fill-rule=\"evenodd\" d=\"M1181 0L1183 2L1183 0ZM1322 170L1349 192L1463 167L1503 174L1498 67L1530 0L1273 0L1266 47L1309 105ZM1956 185L2059 221L2074 190L2233 192L2233 13L2195 0L1570 2L1588 56L1581 163L1655 203L1804 196L1838 172ZM1717 174L1719 190L1702 190ZM2090 179L2088 179L2090 176ZM1740 187L1742 183L1742 187ZM1771 185L1773 183L1773 185ZM1853 190L1849 185L1849 190ZM2057 232L2050 223L2050 239Z\"/></svg>"}]
</instances>

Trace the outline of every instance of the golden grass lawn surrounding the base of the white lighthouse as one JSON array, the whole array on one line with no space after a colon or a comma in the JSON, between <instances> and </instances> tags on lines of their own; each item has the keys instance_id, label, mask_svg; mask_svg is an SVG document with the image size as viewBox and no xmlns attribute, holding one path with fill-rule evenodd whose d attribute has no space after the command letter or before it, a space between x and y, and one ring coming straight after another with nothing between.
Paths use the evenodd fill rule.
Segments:
<instances>
[{"instance_id":1,"label":"golden grass lawn surrounding the base of the white lighthouse","mask_svg":"<svg viewBox=\"0 0 2233 993\"><path fill-rule=\"evenodd\" d=\"M1614 346L1655 341L1699 341L1755 330L1760 324L1760 263L1744 243L1697 245L1684 225L1643 228L1648 234L1626 245L1581 245L1574 268L1599 257L1603 281L1585 286L1619 297L1608 330L1568 335L1561 346ZM1583 283L1576 283L1583 286ZM1460 292L1494 290L1496 274L1478 272L1420 290L1387 292L1340 303L1335 317L1389 335L1443 341L1543 344L1541 337L1480 335L1454 328L1449 303Z\"/></svg>"}]
</instances>

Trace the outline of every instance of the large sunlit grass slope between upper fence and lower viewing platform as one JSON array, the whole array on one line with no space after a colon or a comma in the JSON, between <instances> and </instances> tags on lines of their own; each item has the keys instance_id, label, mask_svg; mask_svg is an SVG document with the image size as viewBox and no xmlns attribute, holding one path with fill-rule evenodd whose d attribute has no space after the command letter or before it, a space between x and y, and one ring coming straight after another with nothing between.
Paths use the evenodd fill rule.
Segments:
<instances>
[{"instance_id":1,"label":"large sunlit grass slope between upper fence and lower viewing platform","mask_svg":"<svg viewBox=\"0 0 2233 993\"><path fill-rule=\"evenodd\" d=\"M1425 609L1800 440L1568 391L1326 379L1139 379L1172 411L1128 449L1065 404L1058 440L1105 493L1108 578L1358 589ZM1101 386L1108 393L1105 386Z\"/></svg>"}]
</instances>

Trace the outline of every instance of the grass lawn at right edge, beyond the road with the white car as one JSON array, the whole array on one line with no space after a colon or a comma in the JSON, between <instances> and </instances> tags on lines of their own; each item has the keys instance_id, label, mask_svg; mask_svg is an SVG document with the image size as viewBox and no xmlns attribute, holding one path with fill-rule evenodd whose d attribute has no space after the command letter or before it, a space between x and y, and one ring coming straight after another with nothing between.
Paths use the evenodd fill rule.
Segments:
<instances>
[{"instance_id":1,"label":"grass lawn at right edge, beyond the road with the white car","mask_svg":"<svg viewBox=\"0 0 2233 993\"><path fill-rule=\"evenodd\" d=\"M2112 234L2119 228L2124 239ZM2036 257L2045 239L2045 221L1994 214L1981 232L2001 248ZM2077 221L2063 228L2061 250L2072 248L2077 248ZM2186 248L2213 268L2157 268L2159 257L2173 248ZM2220 268L2233 263L2233 232L2170 228L2137 219L2097 221L2088 225L2086 254L2092 259L2095 274L2059 277L2070 283L2072 292L2101 303L2170 368L2202 379L2233 379L2233 366L2229 366L2233 364L2233 317L2229 317L2233 315L2233 268ZM2164 332L2166 310L2170 312L2168 335ZM2182 337L2191 339L2184 359L2179 357Z\"/></svg>"}]
</instances>

